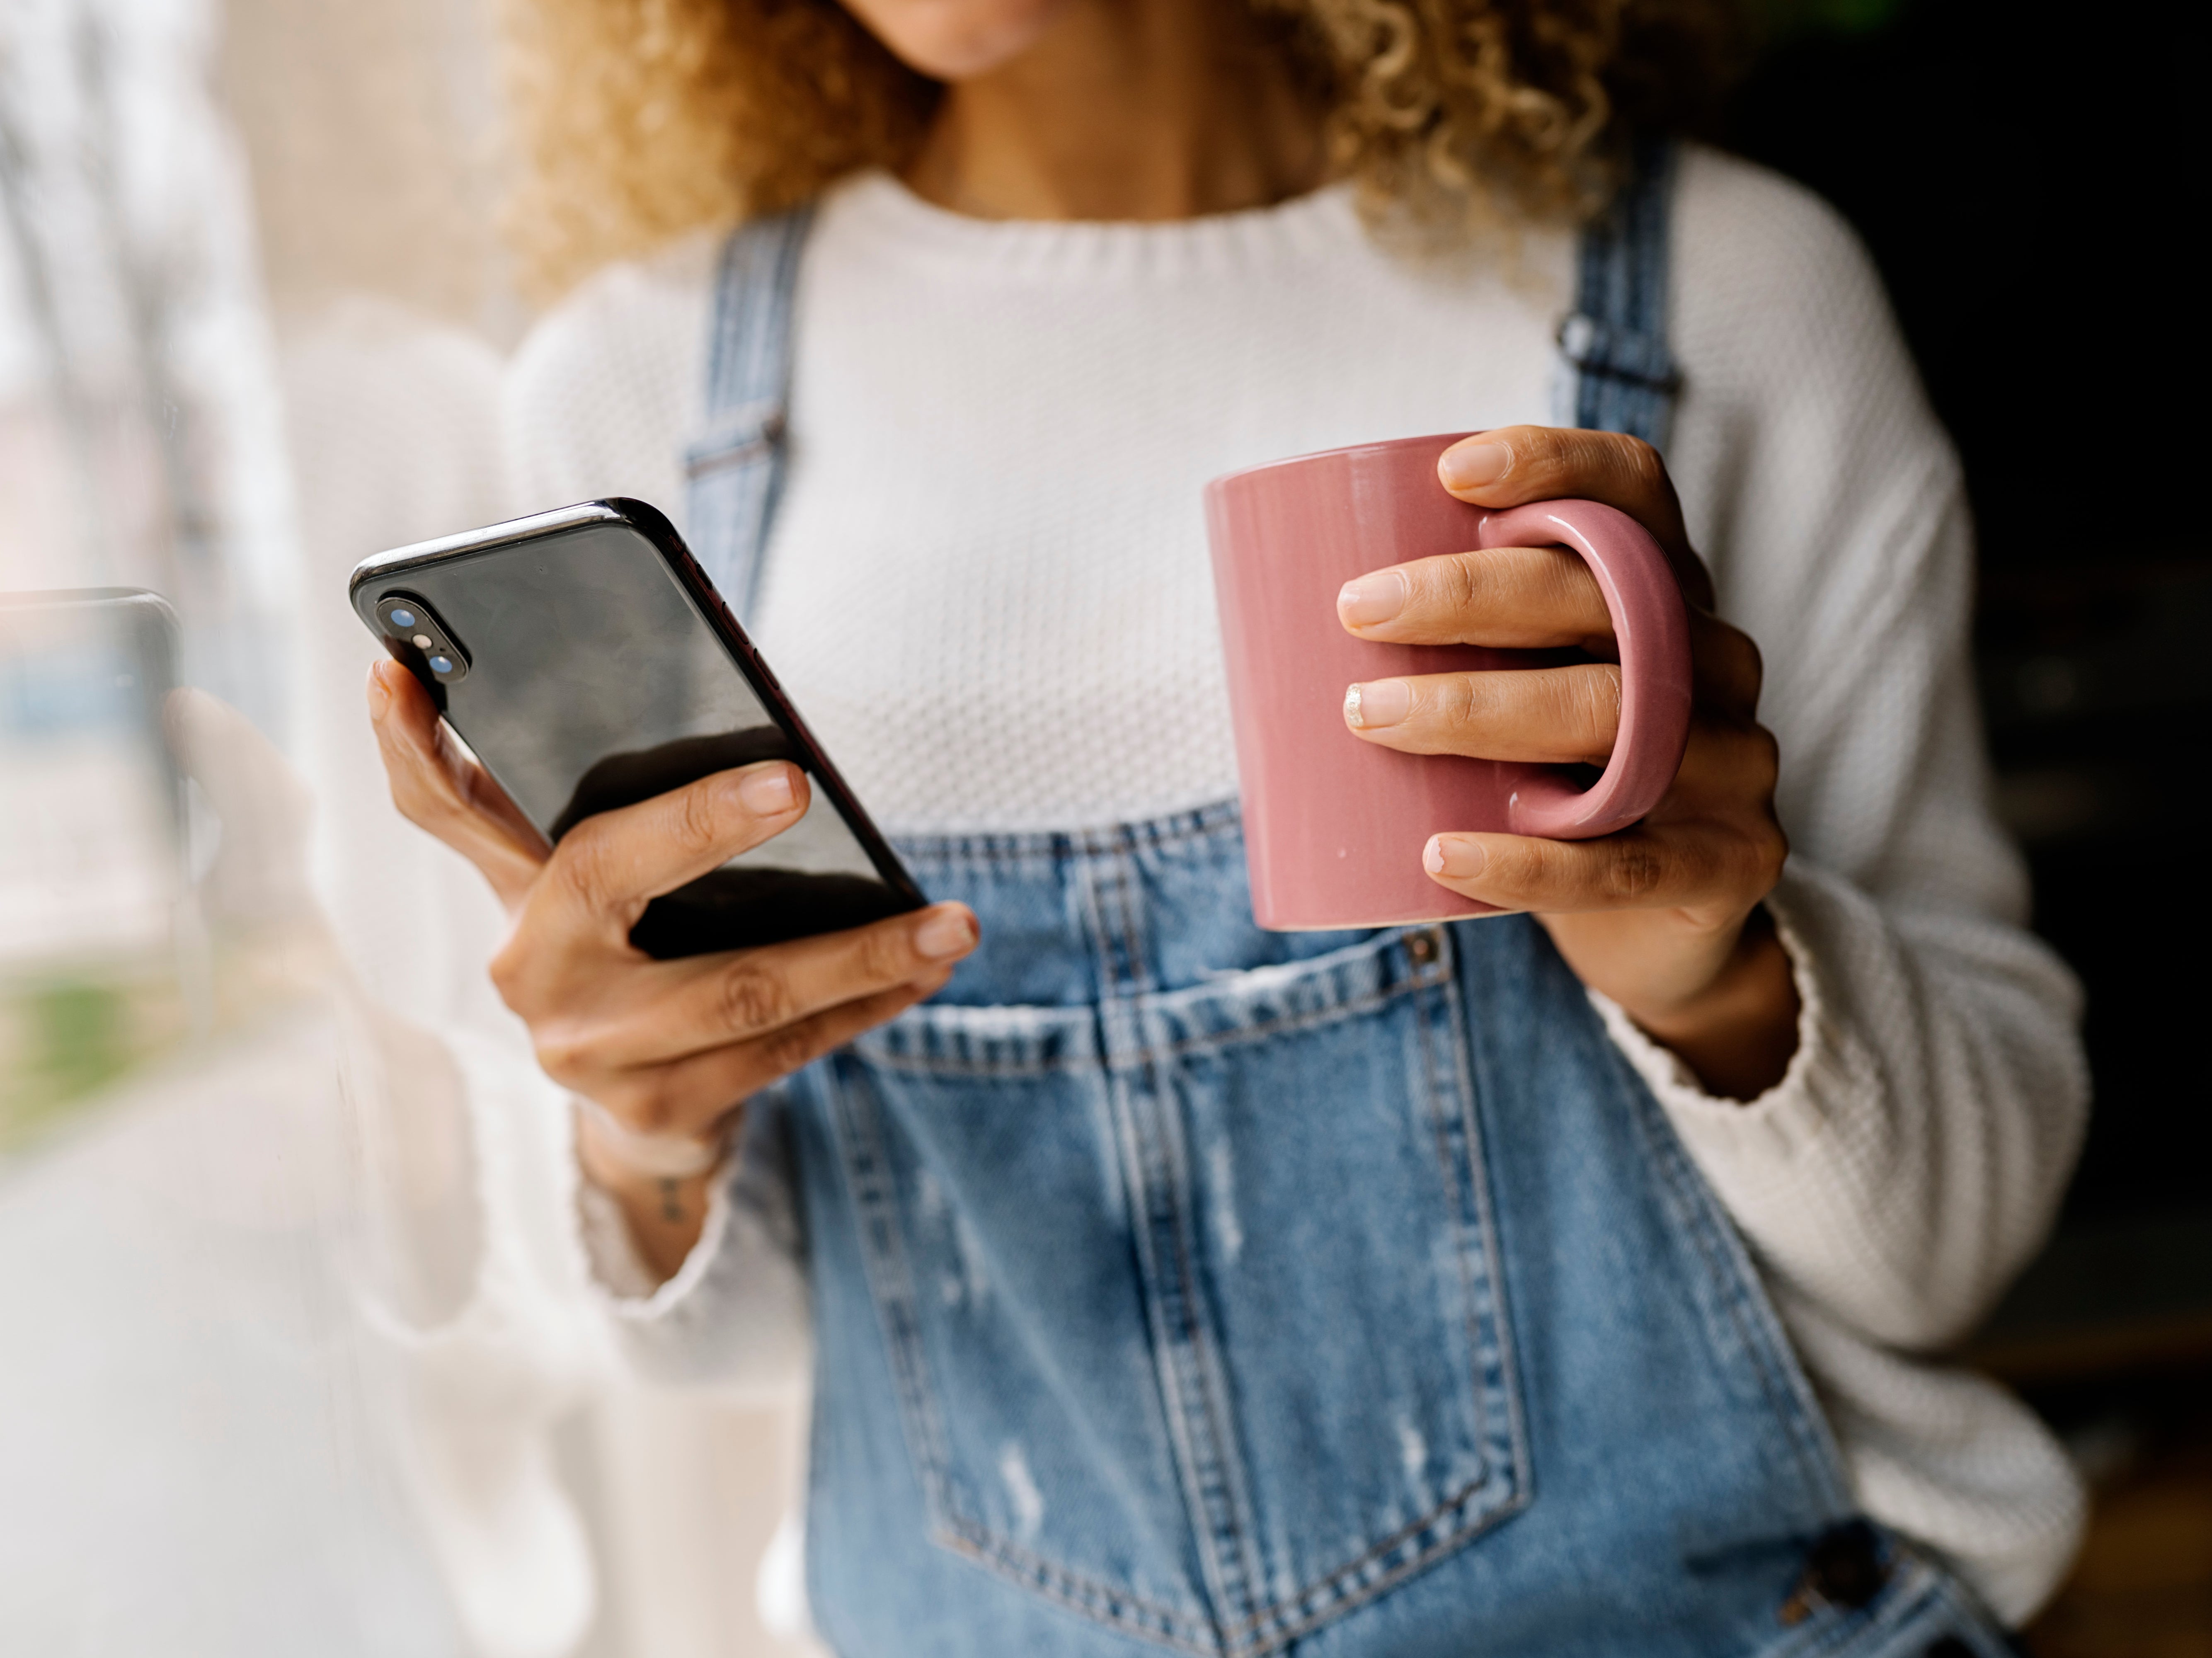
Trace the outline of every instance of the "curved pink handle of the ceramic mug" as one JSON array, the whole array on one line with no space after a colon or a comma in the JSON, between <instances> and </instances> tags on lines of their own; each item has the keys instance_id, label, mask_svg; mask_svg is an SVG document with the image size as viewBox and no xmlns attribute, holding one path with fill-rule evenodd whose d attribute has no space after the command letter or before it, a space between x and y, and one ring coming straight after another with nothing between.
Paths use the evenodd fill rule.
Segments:
<instances>
[{"instance_id":1,"label":"curved pink handle of the ceramic mug","mask_svg":"<svg viewBox=\"0 0 2212 1658\"><path fill-rule=\"evenodd\" d=\"M1606 773L1573 788L1555 766L1526 766L1506 830L1586 841L1628 828L1666 795L1690 746L1690 618L1659 542L1597 500L1535 500L1482 516L1478 547L1566 547L1606 595L1621 646L1621 730Z\"/></svg>"}]
</instances>

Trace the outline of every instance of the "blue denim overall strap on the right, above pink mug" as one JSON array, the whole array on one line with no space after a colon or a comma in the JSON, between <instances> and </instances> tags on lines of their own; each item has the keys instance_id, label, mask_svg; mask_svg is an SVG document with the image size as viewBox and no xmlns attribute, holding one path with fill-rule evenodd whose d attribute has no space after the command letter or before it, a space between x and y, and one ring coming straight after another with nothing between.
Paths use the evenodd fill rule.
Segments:
<instances>
[{"instance_id":1,"label":"blue denim overall strap on the right, above pink mug","mask_svg":"<svg viewBox=\"0 0 2212 1658\"><path fill-rule=\"evenodd\" d=\"M1672 139L1639 139L1628 179L1582 232L1575 310L1559 323L1562 425L1666 449L1681 374L1666 343Z\"/></svg>"}]
</instances>

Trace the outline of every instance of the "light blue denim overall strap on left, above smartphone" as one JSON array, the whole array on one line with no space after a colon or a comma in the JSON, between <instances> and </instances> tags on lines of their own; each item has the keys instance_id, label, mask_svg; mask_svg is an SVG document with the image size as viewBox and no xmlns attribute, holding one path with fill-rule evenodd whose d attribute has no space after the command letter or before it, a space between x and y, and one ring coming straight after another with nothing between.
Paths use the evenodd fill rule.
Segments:
<instances>
[{"instance_id":1,"label":"light blue denim overall strap on left, above smartphone","mask_svg":"<svg viewBox=\"0 0 2212 1658\"><path fill-rule=\"evenodd\" d=\"M768 525L783 491L792 396L792 290L812 208L750 219L714 270L706 423L684 452L688 540L741 620L752 615Z\"/></svg>"}]
</instances>

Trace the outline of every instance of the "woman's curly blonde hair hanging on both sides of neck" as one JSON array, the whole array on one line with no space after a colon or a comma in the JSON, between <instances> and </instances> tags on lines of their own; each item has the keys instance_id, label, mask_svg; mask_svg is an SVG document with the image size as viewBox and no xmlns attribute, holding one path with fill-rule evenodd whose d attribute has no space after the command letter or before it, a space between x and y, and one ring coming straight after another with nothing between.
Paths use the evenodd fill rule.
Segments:
<instances>
[{"instance_id":1,"label":"woman's curly blonde hair hanging on both sides of neck","mask_svg":"<svg viewBox=\"0 0 2212 1658\"><path fill-rule=\"evenodd\" d=\"M1444 232L1604 206L1630 126L1686 126L1732 0L1248 0L1325 111L1371 224ZM540 297L686 230L898 168L942 84L836 0L500 0L509 232Z\"/></svg>"}]
</instances>

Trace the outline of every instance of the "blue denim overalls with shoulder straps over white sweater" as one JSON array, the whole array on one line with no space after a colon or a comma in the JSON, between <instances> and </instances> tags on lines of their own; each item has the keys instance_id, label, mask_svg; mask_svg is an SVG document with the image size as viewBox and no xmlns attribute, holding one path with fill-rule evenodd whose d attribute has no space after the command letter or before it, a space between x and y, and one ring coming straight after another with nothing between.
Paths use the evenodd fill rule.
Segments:
<instances>
[{"instance_id":1,"label":"blue denim overalls with shoulder straps over white sweater","mask_svg":"<svg viewBox=\"0 0 2212 1658\"><path fill-rule=\"evenodd\" d=\"M1668 153L1584 239L1577 425L1663 436ZM743 607L805 215L723 255L692 545ZM1192 511L1199 505L1192 502ZM1542 928L1252 923L1237 806L900 843L982 945L779 1094L845 1658L1958 1658Z\"/></svg>"}]
</instances>

